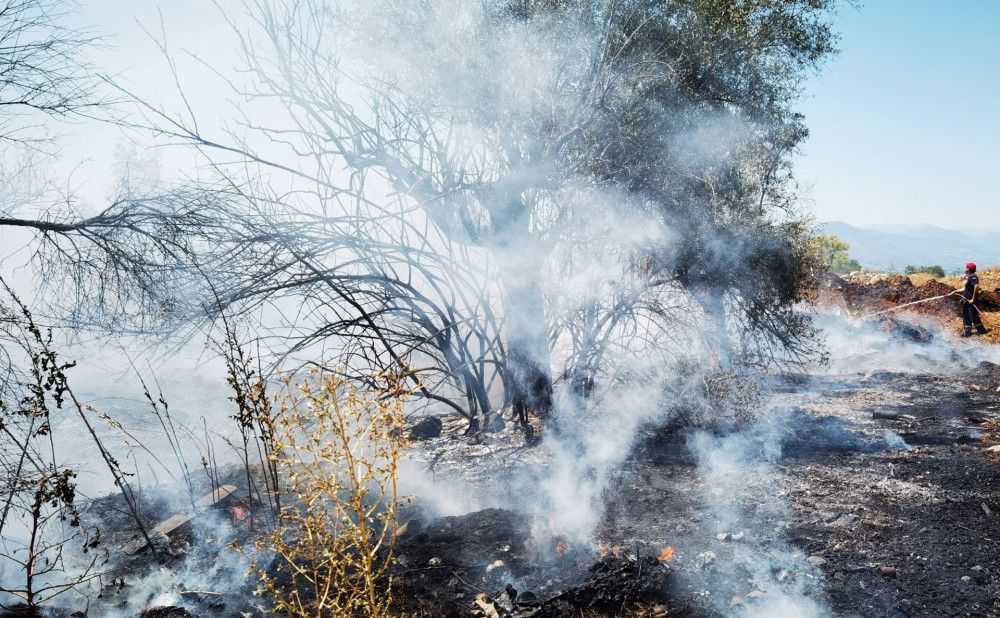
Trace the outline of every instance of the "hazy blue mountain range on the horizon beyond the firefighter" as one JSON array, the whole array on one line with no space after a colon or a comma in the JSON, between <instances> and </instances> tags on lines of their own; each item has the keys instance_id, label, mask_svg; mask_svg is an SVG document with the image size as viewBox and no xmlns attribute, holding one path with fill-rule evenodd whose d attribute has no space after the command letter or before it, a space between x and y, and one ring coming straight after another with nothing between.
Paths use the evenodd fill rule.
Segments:
<instances>
[{"instance_id":1,"label":"hazy blue mountain range on the horizon beyond the firefighter","mask_svg":"<svg viewBox=\"0 0 1000 618\"><path fill-rule=\"evenodd\" d=\"M933 225L878 225L856 227L843 221L820 224L851 246L848 253L869 270L902 270L907 265L938 265L946 272L961 271L966 262L980 266L1000 264L1000 230L975 232Z\"/></svg>"}]
</instances>

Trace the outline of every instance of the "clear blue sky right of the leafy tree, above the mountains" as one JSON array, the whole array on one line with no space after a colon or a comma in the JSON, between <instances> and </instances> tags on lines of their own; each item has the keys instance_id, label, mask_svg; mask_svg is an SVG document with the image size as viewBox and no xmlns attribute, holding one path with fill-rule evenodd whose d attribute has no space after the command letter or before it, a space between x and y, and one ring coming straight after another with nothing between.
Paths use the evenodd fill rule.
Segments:
<instances>
[{"instance_id":1,"label":"clear blue sky right of the leafy tree, above the mountains","mask_svg":"<svg viewBox=\"0 0 1000 618\"><path fill-rule=\"evenodd\" d=\"M1000 225L1000 2L841 6L841 53L807 84L797 175L817 218Z\"/></svg>"}]
</instances>

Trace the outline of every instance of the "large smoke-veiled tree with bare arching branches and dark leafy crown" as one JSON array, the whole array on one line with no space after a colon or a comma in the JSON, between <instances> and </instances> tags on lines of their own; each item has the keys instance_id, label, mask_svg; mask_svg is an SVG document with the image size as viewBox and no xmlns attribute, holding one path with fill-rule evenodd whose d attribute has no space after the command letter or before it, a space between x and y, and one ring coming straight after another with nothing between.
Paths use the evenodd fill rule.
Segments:
<instances>
[{"instance_id":1,"label":"large smoke-veiled tree with bare arching branches and dark leafy crown","mask_svg":"<svg viewBox=\"0 0 1000 618\"><path fill-rule=\"evenodd\" d=\"M830 49L825 4L250 3L244 71L219 74L236 130L134 99L212 183L0 224L36 231L77 325L279 315L279 358L405 369L474 429L684 341L802 358L790 102ZM658 232L605 226L616 260L581 276L596 262L574 245L605 219Z\"/></svg>"}]
</instances>

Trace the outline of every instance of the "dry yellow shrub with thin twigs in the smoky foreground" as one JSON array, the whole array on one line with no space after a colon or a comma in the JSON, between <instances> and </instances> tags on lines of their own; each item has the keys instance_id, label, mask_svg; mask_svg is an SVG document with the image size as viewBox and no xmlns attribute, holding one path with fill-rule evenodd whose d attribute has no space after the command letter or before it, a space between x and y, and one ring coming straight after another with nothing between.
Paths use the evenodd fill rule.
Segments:
<instances>
[{"instance_id":1,"label":"dry yellow shrub with thin twigs in the smoky foreground","mask_svg":"<svg viewBox=\"0 0 1000 618\"><path fill-rule=\"evenodd\" d=\"M289 391L273 449L286 497L259 593L296 617L387 616L406 392L320 373Z\"/></svg>"}]
</instances>

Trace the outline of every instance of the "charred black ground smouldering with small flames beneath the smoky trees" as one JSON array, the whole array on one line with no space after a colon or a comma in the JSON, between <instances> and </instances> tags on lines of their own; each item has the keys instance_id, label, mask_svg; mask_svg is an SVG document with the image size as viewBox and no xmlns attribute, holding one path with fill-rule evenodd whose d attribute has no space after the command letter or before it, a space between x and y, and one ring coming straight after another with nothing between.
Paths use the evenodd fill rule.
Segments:
<instances>
[{"instance_id":1,"label":"charred black ground smouldering with small flames beneath the smoky trees","mask_svg":"<svg viewBox=\"0 0 1000 618\"><path fill-rule=\"evenodd\" d=\"M594 539L560 537L531 508L544 448L449 432L422 443L415 466L437 490L403 509L404 615L1000 616L1000 367L951 354L939 373L776 376L768 413L740 434L647 428L611 476ZM459 515L421 505L470 488L480 502L453 504ZM114 551L128 521L105 500L88 514ZM146 504L151 522L171 512ZM155 604L143 581L159 572L193 615L267 615L252 584L222 572L239 568L220 556L245 534L232 514L155 556L118 557L89 615Z\"/></svg>"}]
</instances>

